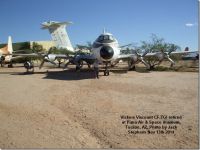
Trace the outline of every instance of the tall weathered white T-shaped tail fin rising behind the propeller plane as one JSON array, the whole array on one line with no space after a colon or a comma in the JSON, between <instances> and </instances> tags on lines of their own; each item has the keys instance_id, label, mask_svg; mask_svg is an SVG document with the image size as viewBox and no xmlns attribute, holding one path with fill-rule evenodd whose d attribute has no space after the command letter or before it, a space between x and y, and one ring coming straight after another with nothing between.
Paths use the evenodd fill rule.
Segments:
<instances>
[{"instance_id":1,"label":"tall weathered white T-shaped tail fin rising behind the propeller plane","mask_svg":"<svg viewBox=\"0 0 200 150\"><path fill-rule=\"evenodd\" d=\"M53 41L58 48L66 48L69 51L74 51L70 42L66 27L72 24L71 22L55 22L49 21L42 23L42 29L48 29Z\"/></svg>"}]
</instances>

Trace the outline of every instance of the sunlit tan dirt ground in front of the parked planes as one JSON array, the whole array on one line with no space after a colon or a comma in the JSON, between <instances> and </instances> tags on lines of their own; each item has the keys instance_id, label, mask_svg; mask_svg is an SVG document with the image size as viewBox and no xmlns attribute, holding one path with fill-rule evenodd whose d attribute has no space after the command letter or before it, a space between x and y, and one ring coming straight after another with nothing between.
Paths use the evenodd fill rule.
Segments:
<instances>
[{"instance_id":1,"label":"sunlit tan dirt ground in front of the parked planes","mask_svg":"<svg viewBox=\"0 0 200 150\"><path fill-rule=\"evenodd\" d=\"M0 68L0 148L197 148L198 73ZM128 134L122 115L181 115L175 134Z\"/></svg>"}]
</instances>

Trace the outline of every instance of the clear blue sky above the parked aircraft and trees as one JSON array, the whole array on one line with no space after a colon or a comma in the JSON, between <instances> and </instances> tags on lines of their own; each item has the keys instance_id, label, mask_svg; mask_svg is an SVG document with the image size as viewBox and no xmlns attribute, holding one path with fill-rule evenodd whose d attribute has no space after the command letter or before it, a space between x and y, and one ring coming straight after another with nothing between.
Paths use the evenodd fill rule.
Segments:
<instances>
[{"instance_id":1,"label":"clear blue sky above the parked aircraft and trees","mask_svg":"<svg viewBox=\"0 0 200 150\"><path fill-rule=\"evenodd\" d=\"M0 0L0 43L51 40L44 21L72 21L73 45L93 42L105 27L121 45L152 33L184 49L198 47L198 0Z\"/></svg>"}]
</instances>

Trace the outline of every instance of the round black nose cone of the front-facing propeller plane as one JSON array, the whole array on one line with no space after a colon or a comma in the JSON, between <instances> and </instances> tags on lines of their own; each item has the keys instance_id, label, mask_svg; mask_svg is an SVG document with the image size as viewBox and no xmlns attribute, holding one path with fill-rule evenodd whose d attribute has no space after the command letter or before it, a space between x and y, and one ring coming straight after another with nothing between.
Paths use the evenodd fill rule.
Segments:
<instances>
[{"instance_id":1,"label":"round black nose cone of the front-facing propeller plane","mask_svg":"<svg viewBox=\"0 0 200 150\"><path fill-rule=\"evenodd\" d=\"M103 59L111 59L114 55L114 51L110 46L103 46L100 50L100 56Z\"/></svg>"}]
</instances>

